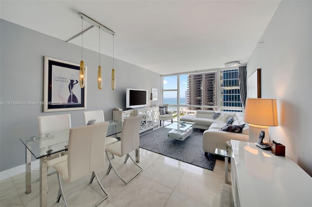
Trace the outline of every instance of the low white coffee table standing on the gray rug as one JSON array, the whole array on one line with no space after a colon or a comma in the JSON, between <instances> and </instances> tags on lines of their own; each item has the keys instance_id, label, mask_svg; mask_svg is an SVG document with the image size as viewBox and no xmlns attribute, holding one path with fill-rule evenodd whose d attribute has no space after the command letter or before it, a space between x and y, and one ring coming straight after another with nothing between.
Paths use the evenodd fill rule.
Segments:
<instances>
[{"instance_id":1,"label":"low white coffee table standing on the gray rug","mask_svg":"<svg viewBox=\"0 0 312 207\"><path fill-rule=\"evenodd\" d=\"M192 134L192 126L193 123L184 123L184 125L181 125L180 122L174 122L172 124L169 124L168 126L165 126L165 128L171 129L171 131L168 132L168 138L174 138L183 141L190 134Z\"/></svg>"}]
</instances>

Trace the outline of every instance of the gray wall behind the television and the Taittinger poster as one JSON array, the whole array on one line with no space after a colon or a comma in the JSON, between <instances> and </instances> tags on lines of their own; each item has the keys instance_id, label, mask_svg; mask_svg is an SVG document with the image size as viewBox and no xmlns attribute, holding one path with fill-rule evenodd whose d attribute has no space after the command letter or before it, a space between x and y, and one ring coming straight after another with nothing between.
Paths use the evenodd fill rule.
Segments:
<instances>
[{"instance_id":1,"label":"gray wall behind the television and the Taittinger poster","mask_svg":"<svg viewBox=\"0 0 312 207\"><path fill-rule=\"evenodd\" d=\"M43 101L43 57L80 62L81 48L0 19L0 101ZM101 55L103 87L98 90L98 53L83 50L87 66L87 110L104 110L112 120L114 107L125 108L126 88L151 91L158 88L160 74L115 59L116 89L111 89L112 57ZM160 100L153 104L160 103ZM0 171L25 163L20 137L38 134L38 116L71 114L72 127L81 126L83 110L43 113L42 105L0 105Z\"/></svg>"}]
</instances>

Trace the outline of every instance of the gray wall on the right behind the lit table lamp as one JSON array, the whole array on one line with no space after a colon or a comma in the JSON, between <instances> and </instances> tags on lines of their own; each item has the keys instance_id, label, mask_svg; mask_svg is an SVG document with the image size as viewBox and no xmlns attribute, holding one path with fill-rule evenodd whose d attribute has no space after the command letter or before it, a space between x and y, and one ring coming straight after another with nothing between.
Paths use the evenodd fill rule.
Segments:
<instances>
[{"instance_id":1,"label":"gray wall on the right behind the lit table lamp","mask_svg":"<svg viewBox=\"0 0 312 207\"><path fill-rule=\"evenodd\" d=\"M260 40L247 72L261 68L261 97L277 100L270 139L312 176L312 1L281 1Z\"/></svg>"}]
</instances>

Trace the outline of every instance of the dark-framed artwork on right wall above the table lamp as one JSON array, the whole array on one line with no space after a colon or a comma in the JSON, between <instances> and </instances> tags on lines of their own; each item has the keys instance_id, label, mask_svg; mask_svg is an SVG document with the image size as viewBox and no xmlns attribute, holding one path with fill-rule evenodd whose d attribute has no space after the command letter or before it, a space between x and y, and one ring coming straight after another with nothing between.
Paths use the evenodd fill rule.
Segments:
<instances>
[{"instance_id":1,"label":"dark-framed artwork on right wall above the table lamp","mask_svg":"<svg viewBox=\"0 0 312 207\"><path fill-rule=\"evenodd\" d=\"M261 98L261 69L248 77L248 98Z\"/></svg>"}]
</instances>

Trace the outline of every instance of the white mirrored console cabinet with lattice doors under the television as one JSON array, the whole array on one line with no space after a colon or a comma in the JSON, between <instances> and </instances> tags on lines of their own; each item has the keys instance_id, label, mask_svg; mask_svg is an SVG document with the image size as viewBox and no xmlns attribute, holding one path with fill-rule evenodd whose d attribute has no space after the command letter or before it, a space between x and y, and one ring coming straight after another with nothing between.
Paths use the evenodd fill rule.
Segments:
<instances>
[{"instance_id":1,"label":"white mirrored console cabinet with lattice doors under the television","mask_svg":"<svg viewBox=\"0 0 312 207\"><path fill-rule=\"evenodd\" d=\"M158 125L158 106L132 109L126 111L113 110L113 120L123 121L128 117L142 116L140 133Z\"/></svg>"}]
</instances>

